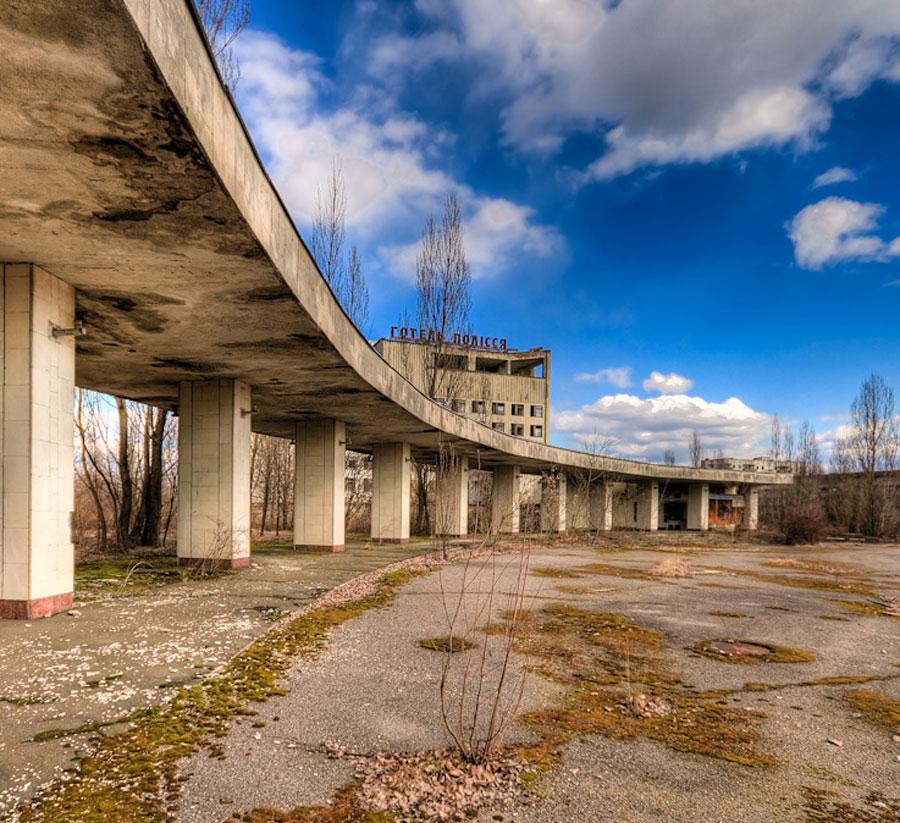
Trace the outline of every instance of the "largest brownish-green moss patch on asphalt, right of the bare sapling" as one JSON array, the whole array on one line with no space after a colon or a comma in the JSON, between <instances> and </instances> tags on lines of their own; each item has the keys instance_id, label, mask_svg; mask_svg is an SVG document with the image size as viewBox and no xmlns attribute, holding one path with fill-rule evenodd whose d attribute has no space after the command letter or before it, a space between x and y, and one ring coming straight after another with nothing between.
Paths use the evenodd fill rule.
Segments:
<instances>
[{"instance_id":1,"label":"largest brownish-green moss patch on asphalt, right of the bare sapling","mask_svg":"<svg viewBox=\"0 0 900 823\"><path fill-rule=\"evenodd\" d=\"M517 641L534 668L565 688L563 703L525 722L543 744L523 750L549 768L571 737L648 738L676 751L745 766L774 765L756 749L759 713L698 694L664 664L663 635L613 612L553 605L530 612ZM533 749L533 751L532 751Z\"/></svg>"}]
</instances>

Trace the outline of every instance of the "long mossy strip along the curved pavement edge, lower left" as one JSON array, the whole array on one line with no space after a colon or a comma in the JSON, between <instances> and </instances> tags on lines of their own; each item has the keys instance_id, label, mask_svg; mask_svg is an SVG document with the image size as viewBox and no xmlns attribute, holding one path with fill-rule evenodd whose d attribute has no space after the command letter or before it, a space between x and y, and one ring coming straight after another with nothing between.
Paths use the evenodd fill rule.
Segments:
<instances>
[{"instance_id":1,"label":"long mossy strip along the curved pavement edge, lower left","mask_svg":"<svg viewBox=\"0 0 900 823\"><path fill-rule=\"evenodd\" d=\"M179 688L164 706L132 714L127 730L101 739L71 775L20 807L19 818L54 823L169 819L168 806L178 796L182 758L224 737L232 719L253 714L254 703L284 694L279 681L292 662L324 649L331 629L369 609L387 606L401 586L423 573L386 574L369 595L278 624L219 674Z\"/></svg>"}]
</instances>

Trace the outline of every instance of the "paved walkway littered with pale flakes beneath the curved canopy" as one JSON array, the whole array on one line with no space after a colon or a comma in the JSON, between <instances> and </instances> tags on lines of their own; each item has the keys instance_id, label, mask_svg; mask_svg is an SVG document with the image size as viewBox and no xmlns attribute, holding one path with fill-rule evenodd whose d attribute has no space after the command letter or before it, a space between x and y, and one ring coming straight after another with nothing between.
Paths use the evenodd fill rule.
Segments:
<instances>
[{"instance_id":1,"label":"paved walkway littered with pale flakes beneath the curved canopy","mask_svg":"<svg viewBox=\"0 0 900 823\"><path fill-rule=\"evenodd\" d=\"M117 719L226 663L271 628L273 617L429 549L254 552L253 565L240 573L83 604L76 592L77 616L0 621L0 817L85 750L89 733L63 732L87 724L113 724L104 727L113 731Z\"/></svg>"}]
</instances>

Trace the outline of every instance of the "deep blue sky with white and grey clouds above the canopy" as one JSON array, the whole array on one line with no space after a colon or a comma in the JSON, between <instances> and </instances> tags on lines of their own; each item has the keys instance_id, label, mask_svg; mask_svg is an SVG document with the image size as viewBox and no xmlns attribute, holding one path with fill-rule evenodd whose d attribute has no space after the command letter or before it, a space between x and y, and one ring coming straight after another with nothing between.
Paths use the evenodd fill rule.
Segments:
<instances>
[{"instance_id":1,"label":"deep blue sky with white and grey clouds above the canopy","mask_svg":"<svg viewBox=\"0 0 900 823\"><path fill-rule=\"evenodd\" d=\"M308 228L333 159L371 337L455 191L476 331L553 351L552 438L823 448L900 391L900 0L254 0L238 104Z\"/></svg>"}]
</instances>

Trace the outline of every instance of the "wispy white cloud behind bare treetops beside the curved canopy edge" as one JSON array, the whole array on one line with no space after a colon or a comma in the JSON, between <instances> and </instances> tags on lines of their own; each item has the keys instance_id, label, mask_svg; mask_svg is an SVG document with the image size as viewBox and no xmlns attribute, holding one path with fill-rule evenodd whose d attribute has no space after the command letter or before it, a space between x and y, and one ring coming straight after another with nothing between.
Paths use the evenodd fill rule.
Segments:
<instances>
[{"instance_id":1,"label":"wispy white cloud behind bare treetops beside the curved canopy edge","mask_svg":"<svg viewBox=\"0 0 900 823\"><path fill-rule=\"evenodd\" d=\"M241 63L241 110L291 213L309 225L316 190L336 159L344 171L347 221L395 274L413 270L418 235L429 214L455 192L463 210L466 251L476 276L493 275L518 255L547 257L563 245L528 206L488 197L440 169L436 158L452 139L371 89L352 105L328 111L328 80L314 55L277 37L248 31L235 50ZM383 238L405 237L397 245ZM382 241L380 243L380 241Z\"/></svg>"}]
</instances>

